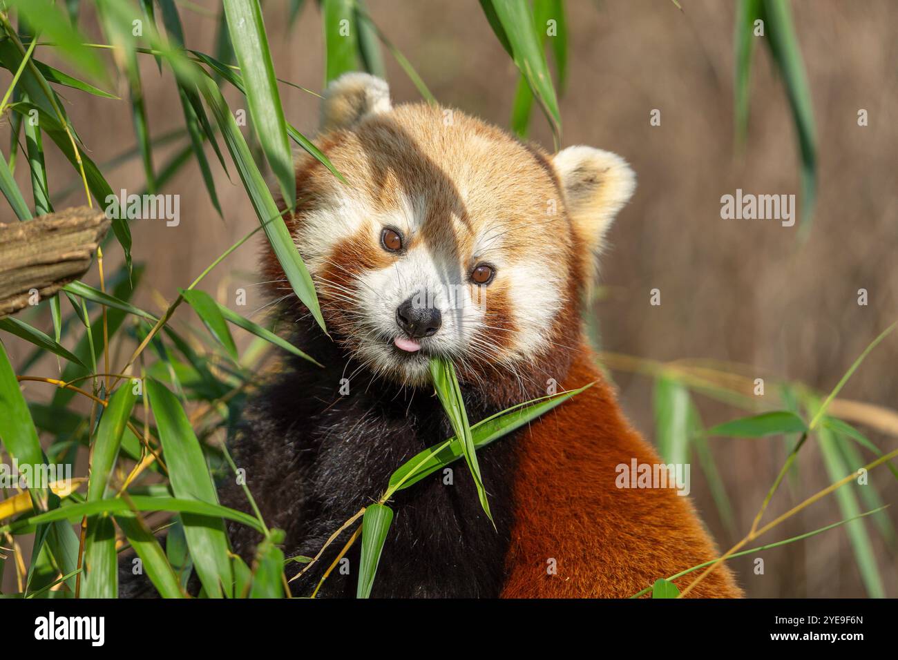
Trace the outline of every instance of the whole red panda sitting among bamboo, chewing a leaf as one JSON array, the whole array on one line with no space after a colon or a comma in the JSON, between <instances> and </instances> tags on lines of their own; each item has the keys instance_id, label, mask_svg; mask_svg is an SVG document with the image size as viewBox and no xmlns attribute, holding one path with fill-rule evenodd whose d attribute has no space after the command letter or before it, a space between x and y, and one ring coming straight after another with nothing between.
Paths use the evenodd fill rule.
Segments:
<instances>
[{"instance_id":1,"label":"whole red panda sitting among bamboo, chewing a leaf","mask_svg":"<svg viewBox=\"0 0 898 660\"><path fill-rule=\"evenodd\" d=\"M282 365L233 446L262 515L286 531L286 555L313 556L402 462L453 435L427 367L445 356L471 423L551 383L596 384L480 450L495 528L463 464L397 493L374 596L627 597L718 557L673 488L618 488L618 466L661 459L623 417L581 317L604 235L635 188L629 165L587 146L546 154L459 110L393 107L364 74L330 84L321 127L346 182L300 158L287 225L330 337L268 249L262 274L297 345L326 366ZM222 498L246 508L233 485ZM230 531L251 554L254 532ZM311 593L351 532L291 582L295 594ZM357 548L347 567L321 595L355 594ZM741 591L722 566L691 595Z\"/></svg>"}]
</instances>

